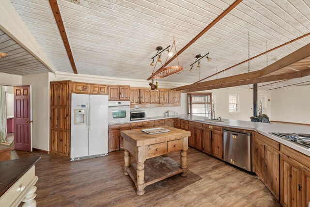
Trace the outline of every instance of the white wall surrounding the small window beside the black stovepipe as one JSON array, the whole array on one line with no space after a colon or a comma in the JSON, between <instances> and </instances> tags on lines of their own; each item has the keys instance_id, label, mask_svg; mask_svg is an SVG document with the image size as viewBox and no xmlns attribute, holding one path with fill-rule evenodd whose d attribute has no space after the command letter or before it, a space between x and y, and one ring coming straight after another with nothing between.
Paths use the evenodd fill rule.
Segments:
<instances>
[{"instance_id":1,"label":"white wall surrounding the small window beside the black stovepipe","mask_svg":"<svg viewBox=\"0 0 310 207\"><path fill-rule=\"evenodd\" d=\"M253 90L243 89L243 88L223 88L215 89L203 92L212 92L215 94L215 112L216 117L226 119L235 119L250 121L250 117L253 116ZM229 95L237 94L239 95L239 112L231 113L229 112ZM269 118L271 118L271 93L268 91L258 90L258 95L265 96L266 108L264 113L266 113Z\"/></svg>"}]
</instances>

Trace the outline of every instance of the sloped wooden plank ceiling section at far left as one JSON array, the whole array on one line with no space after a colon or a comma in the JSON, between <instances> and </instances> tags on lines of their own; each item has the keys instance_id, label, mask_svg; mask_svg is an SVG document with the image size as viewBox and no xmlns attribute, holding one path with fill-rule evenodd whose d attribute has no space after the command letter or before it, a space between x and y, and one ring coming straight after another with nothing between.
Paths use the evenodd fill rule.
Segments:
<instances>
[{"instance_id":1,"label":"sloped wooden plank ceiling section at far left","mask_svg":"<svg viewBox=\"0 0 310 207\"><path fill-rule=\"evenodd\" d=\"M0 59L1 73L29 75L50 71L2 30L0 30L0 52L6 53L6 56Z\"/></svg>"}]
</instances>

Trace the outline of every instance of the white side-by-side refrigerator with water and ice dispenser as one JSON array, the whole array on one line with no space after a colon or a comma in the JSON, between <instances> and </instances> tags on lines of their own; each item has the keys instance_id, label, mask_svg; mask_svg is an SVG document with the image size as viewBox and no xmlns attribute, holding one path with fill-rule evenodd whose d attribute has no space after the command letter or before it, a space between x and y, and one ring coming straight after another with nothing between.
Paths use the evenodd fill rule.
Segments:
<instances>
[{"instance_id":1,"label":"white side-by-side refrigerator with water and ice dispenser","mask_svg":"<svg viewBox=\"0 0 310 207\"><path fill-rule=\"evenodd\" d=\"M71 160L108 155L108 101L106 95L71 95Z\"/></svg>"}]
</instances>

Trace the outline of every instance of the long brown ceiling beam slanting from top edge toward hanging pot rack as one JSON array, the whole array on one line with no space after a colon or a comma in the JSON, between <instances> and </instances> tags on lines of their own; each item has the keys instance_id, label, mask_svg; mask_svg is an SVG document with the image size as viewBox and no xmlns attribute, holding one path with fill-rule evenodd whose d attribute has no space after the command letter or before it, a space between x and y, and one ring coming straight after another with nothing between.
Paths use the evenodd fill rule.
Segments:
<instances>
[{"instance_id":1,"label":"long brown ceiling beam slanting from top edge toward hanging pot rack","mask_svg":"<svg viewBox=\"0 0 310 207\"><path fill-rule=\"evenodd\" d=\"M210 30L219 20L221 20L224 16L226 16L230 11L233 10L242 0L235 0L226 10L224 10L216 19L214 19L206 28L202 30L194 39L192 39L189 43L184 46L180 51L178 51L170 60L168 60L165 64L163 64L154 74L156 75L162 71L164 67L170 64L177 56L179 56L182 52L184 52L189 46L191 46L196 40L198 40L205 32ZM147 80L151 80L152 77L149 77Z\"/></svg>"}]
</instances>

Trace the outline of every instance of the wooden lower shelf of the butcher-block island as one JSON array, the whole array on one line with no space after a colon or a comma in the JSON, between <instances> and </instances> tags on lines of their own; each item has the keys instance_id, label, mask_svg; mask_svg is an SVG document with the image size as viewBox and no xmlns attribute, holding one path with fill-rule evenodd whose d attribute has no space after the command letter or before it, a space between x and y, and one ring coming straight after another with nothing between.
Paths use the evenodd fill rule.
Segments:
<instances>
[{"instance_id":1,"label":"wooden lower shelf of the butcher-block island","mask_svg":"<svg viewBox=\"0 0 310 207\"><path fill-rule=\"evenodd\" d=\"M127 168L127 173L137 184L137 163L131 163ZM144 182L145 186L151 185L160 180L166 179L173 175L182 173L183 169L180 163L170 157L155 157L144 161Z\"/></svg>"}]
</instances>

